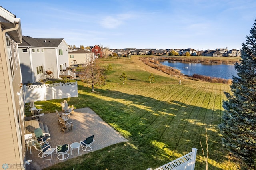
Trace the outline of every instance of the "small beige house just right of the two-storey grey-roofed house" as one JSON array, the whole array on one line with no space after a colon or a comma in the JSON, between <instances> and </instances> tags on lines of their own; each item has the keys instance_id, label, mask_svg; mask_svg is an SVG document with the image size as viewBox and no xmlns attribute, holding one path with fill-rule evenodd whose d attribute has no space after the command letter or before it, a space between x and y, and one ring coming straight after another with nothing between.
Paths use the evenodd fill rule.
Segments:
<instances>
[{"instance_id":1,"label":"small beige house just right of the two-storey grey-roofed house","mask_svg":"<svg viewBox=\"0 0 256 170\"><path fill-rule=\"evenodd\" d=\"M87 65L91 59L95 59L95 53L92 53L90 51L80 49L77 51L72 51L68 53L68 63L70 66L74 65Z\"/></svg>"}]
</instances>

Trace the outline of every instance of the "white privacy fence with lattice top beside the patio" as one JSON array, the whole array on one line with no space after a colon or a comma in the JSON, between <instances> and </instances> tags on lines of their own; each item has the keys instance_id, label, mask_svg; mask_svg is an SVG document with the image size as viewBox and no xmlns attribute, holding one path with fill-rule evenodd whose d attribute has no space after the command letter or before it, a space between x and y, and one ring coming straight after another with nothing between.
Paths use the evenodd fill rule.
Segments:
<instances>
[{"instance_id":1,"label":"white privacy fence with lattice top beside the patio","mask_svg":"<svg viewBox=\"0 0 256 170\"><path fill-rule=\"evenodd\" d=\"M24 103L78 97L77 82L23 86Z\"/></svg>"}]
</instances>

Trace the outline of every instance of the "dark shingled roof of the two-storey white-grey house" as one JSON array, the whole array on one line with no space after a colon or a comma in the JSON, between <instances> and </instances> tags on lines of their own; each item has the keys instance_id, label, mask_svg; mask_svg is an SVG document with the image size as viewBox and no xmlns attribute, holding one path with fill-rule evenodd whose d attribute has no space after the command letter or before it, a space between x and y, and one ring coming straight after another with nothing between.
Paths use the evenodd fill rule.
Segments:
<instances>
[{"instance_id":1,"label":"dark shingled roof of the two-storey white-grey house","mask_svg":"<svg viewBox=\"0 0 256 170\"><path fill-rule=\"evenodd\" d=\"M58 47L63 38L32 38L30 36L22 36L22 43L19 47Z\"/></svg>"}]
</instances>

